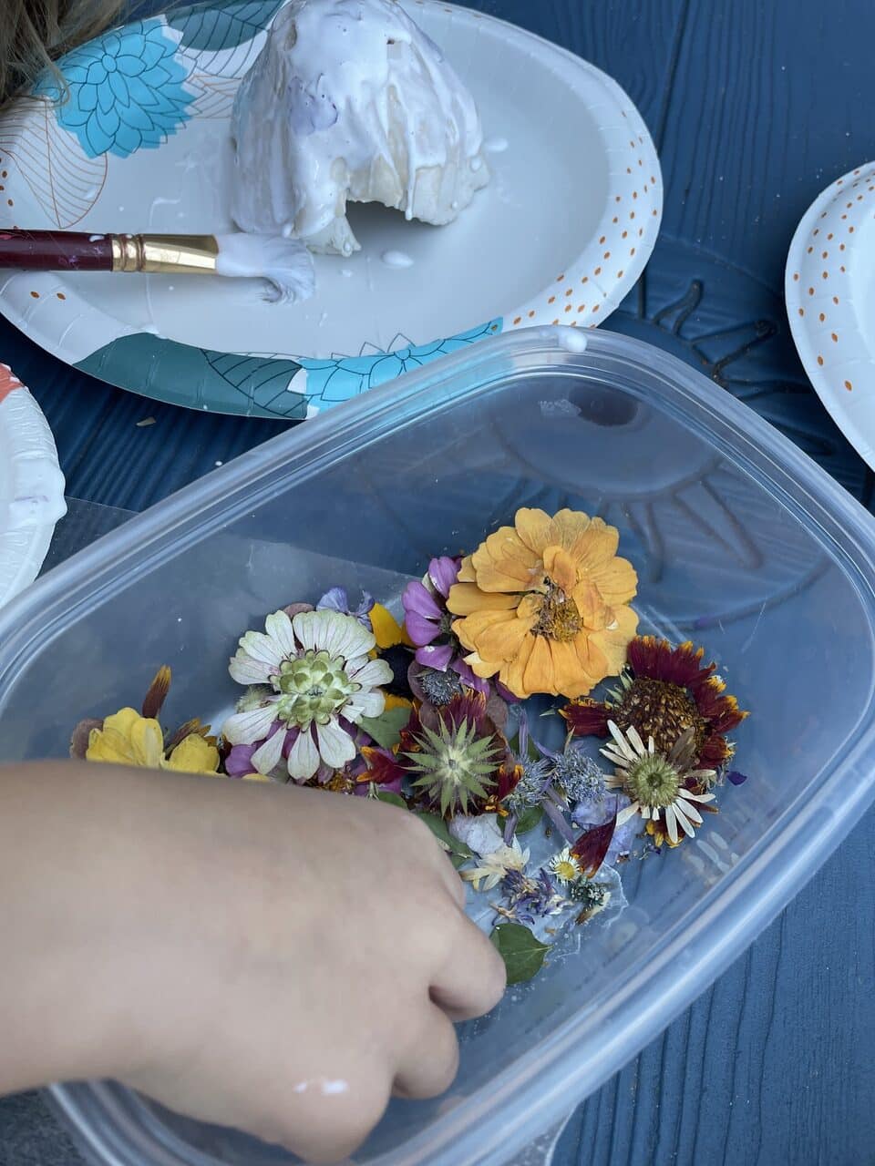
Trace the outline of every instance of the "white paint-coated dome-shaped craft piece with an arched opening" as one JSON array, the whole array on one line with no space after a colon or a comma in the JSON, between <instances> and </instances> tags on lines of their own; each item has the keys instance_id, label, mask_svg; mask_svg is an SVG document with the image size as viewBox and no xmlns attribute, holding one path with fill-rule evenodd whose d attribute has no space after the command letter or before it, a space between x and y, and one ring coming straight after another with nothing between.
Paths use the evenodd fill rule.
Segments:
<instances>
[{"instance_id":1,"label":"white paint-coated dome-shaped craft piece with an arched opening","mask_svg":"<svg viewBox=\"0 0 875 1166\"><path fill-rule=\"evenodd\" d=\"M231 212L292 223L312 251L359 245L346 202L453 222L489 181L474 100L396 0L293 0L235 101Z\"/></svg>"}]
</instances>

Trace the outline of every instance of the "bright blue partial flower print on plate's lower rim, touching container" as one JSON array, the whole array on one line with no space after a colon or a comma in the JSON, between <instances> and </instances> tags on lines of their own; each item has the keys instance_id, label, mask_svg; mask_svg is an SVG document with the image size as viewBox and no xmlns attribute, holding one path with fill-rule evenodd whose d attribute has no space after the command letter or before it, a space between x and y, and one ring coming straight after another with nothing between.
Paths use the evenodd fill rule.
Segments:
<instances>
[{"instance_id":1,"label":"bright blue partial flower print on plate's lower rim, touching container","mask_svg":"<svg viewBox=\"0 0 875 1166\"><path fill-rule=\"evenodd\" d=\"M475 340L501 332L503 317L490 319L487 324L460 332L446 340L433 340L430 344L412 344L393 352L360 357L336 357L330 360L312 360L298 357L298 363L307 370L307 400L316 408L326 408L358 396L368 388L383 385L387 380L419 368L420 365L436 360L447 352L455 352Z\"/></svg>"}]
</instances>

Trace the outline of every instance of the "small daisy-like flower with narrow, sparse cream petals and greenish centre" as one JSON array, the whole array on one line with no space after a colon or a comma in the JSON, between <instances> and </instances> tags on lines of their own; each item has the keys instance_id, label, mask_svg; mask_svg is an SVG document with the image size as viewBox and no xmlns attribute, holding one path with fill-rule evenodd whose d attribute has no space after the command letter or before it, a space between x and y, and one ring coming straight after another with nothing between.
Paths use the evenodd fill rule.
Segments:
<instances>
[{"instance_id":1,"label":"small daisy-like flower with narrow, sparse cream petals and greenish centre","mask_svg":"<svg viewBox=\"0 0 875 1166\"><path fill-rule=\"evenodd\" d=\"M714 777L713 770L692 767L695 764L693 729L687 729L667 753L656 751L652 737L645 746L635 728L622 732L609 721L608 731L612 742L602 753L616 768L607 785L623 789L630 798L630 805L620 812L617 822L640 814L645 821L658 821L672 843L679 841L678 827L692 837L693 824L700 826L702 821L694 803L710 802L715 796L691 788Z\"/></svg>"}]
</instances>

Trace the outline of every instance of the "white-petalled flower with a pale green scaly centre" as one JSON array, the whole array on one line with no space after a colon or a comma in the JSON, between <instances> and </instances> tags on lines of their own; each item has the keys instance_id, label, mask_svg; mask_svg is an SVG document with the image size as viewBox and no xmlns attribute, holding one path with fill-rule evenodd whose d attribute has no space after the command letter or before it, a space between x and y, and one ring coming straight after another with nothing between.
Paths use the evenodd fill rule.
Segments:
<instances>
[{"instance_id":1,"label":"white-petalled flower with a pale green scaly centre","mask_svg":"<svg viewBox=\"0 0 875 1166\"><path fill-rule=\"evenodd\" d=\"M368 658L373 633L336 611L301 611L290 619L276 611L265 628L246 632L230 663L239 683L264 687L225 722L223 736L231 745L262 742L252 754L259 773L271 773L284 757L296 781L309 780L320 766L342 770L356 756L355 725L383 712L378 686L392 675L383 660Z\"/></svg>"}]
</instances>

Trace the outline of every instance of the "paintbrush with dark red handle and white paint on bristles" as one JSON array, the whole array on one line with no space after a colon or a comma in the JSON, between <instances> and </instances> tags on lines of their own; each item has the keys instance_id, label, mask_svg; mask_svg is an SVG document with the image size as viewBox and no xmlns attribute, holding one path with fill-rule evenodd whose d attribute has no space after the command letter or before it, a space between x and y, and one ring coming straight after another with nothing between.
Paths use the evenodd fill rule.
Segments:
<instances>
[{"instance_id":1,"label":"paintbrush with dark red handle and white paint on bristles","mask_svg":"<svg viewBox=\"0 0 875 1166\"><path fill-rule=\"evenodd\" d=\"M0 229L0 268L155 272L266 280L274 302L313 295L313 258L300 239L267 234L91 234Z\"/></svg>"}]
</instances>

